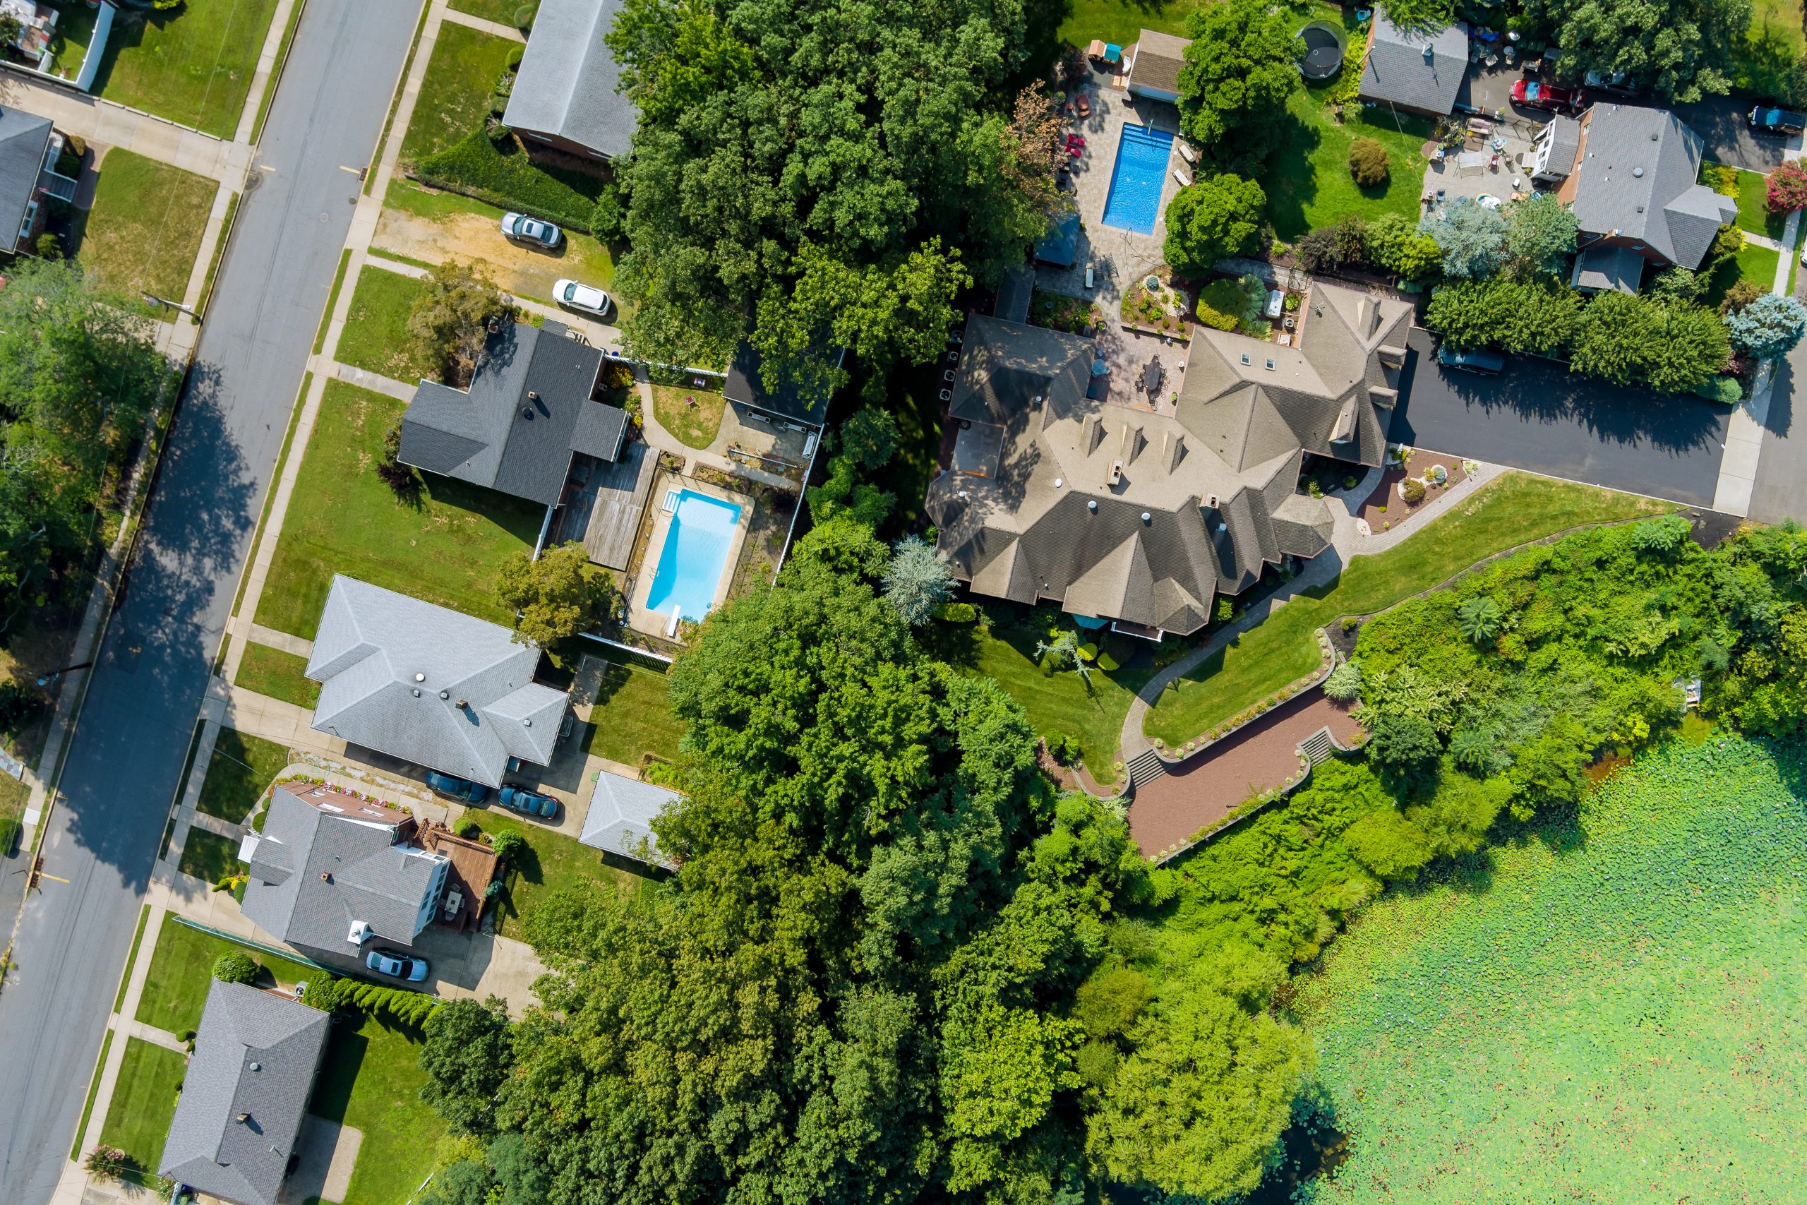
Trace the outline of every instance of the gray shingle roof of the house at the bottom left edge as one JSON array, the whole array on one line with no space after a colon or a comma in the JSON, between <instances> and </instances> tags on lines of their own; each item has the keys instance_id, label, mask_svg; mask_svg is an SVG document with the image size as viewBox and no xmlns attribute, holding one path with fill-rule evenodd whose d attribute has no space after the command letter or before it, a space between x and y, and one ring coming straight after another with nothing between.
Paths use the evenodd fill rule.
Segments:
<instances>
[{"instance_id":1,"label":"gray shingle roof of the house at the bottom left edge","mask_svg":"<svg viewBox=\"0 0 1807 1205\"><path fill-rule=\"evenodd\" d=\"M213 979L157 1174L275 1205L329 1028L318 1008Z\"/></svg>"}]
</instances>

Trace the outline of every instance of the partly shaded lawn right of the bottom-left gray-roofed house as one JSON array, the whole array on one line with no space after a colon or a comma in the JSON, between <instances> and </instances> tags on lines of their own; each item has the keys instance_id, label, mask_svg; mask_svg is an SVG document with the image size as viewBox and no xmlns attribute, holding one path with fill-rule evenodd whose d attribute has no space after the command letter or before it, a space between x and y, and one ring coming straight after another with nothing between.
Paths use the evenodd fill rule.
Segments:
<instances>
[{"instance_id":1,"label":"partly shaded lawn right of the bottom-left gray-roofed house","mask_svg":"<svg viewBox=\"0 0 1807 1205\"><path fill-rule=\"evenodd\" d=\"M421 1100L425 1086L414 1033L363 1014L332 1026L307 1111L363 1131L342 1205L405 1205L434 1169L446 1124Z\"/></svg>"}]
</instances>

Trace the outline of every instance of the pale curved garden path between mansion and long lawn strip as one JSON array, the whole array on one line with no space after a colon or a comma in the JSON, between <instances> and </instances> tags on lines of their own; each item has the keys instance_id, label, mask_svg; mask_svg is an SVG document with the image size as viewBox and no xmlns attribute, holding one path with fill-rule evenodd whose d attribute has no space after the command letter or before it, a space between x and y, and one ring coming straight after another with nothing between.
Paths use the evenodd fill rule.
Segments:
<instances>
[{"instance_id":1,"label":"pale curved garden path between mansion and long lawn strip","mask_svg":"<svg viewBox=\"0 0 1807 1205\"><path fill-rule=\"evenodd\" d=\"M1193 668L1196 668L1209 658L1214 658L1225 645L1229 645L1232 640L1247 632L1250 627L1261 623L1269 616L1269 612L1274 611L1274 607L1285 603L1299 591L1306 591L1312 589L1314 585L1325 585L1335 580L1335 576L1343 573L1344 565L1348 565L1350 560L1353 560L1355 556L1373 556L1377 553L1388 551L1390 547L1395 547L1397 544L1400 544L1402 540L1409 538L1418 529L1422 529L1424 524L1428 524L1431 518L1437 518L1451 506L1465 500L1469 495L1476 493L1489 481L1509 470L1505 470L1500 464L1482 464L1475 473L1471 473L1464 481L1456 482L1455 486L1449 486L1435 499L1426 500L1417 511L1413 511L1409 522L1404 522L1393 528L1391 531L1375 531L1373 535L1362 535L1355 528L1355 511L1359 511L1362 500L1370 493L1373 493L1384 472L1386 470L1382 468L1370 468L1368 475L1353 490L1343 490L1332 495L1337 504L1330 508L1332 515L1335 517L1335 531L1330 537L1330 547L1319 553L1315 558L1312 558L1312 562L1306 564L1305 569L1301 569L1299 574L1292 578L1292 582L1287 582L1287 585L1278 589L1274 594L1249 607L1249 611L1245 611L1240 620L1218 631L1216 636L1207 640L1198 649L1193 649L1184 658L1180 658L1162 672L1155 674L1153 677L1147 679L1147 683L1142 685L1142 688L1137 692L1135 701L1129 703L1129 714L1124 715L1122 733L1119 735L1119 757L1124 761L1124 764L1129 764L1138 753L1151 748L1147 737L1142 735L1142 723L1147 719L1147 708L1151 708L1155 701L1160 699L1162 692L1166 692L1171 683L1178 681L1180 677L1189 674ZM1147 786L1149 784L1144 784L1142 789L1146 791ZM1238 797L1238 802L1241 802L1241 799L1245 797L1247 791L1241 797ZM1196 827L1198 826L1193 826L1193 829Z\"/></svg>"}]
</instances>

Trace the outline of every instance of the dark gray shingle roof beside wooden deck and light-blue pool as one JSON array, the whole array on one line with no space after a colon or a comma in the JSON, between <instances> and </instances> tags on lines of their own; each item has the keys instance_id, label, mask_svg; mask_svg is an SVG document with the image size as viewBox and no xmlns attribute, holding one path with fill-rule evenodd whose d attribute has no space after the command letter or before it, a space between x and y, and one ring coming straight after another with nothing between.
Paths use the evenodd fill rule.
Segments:
<instances>
[{"instance_id":1,"label":"dark gray shingle roof beside wooden deck and light-blue pool","mask_svg":"<svg viewBox=\"0 0 1807 1205\"><path fill-rule=\"evenodd\" d=\"M435 381L414 390L401 462L553 506L573 452L620 455L627 412L591 401L600 370L602 352L566 338L564 323L508 323L490 338L468 392Z\"/></svg>"}]
</instances>

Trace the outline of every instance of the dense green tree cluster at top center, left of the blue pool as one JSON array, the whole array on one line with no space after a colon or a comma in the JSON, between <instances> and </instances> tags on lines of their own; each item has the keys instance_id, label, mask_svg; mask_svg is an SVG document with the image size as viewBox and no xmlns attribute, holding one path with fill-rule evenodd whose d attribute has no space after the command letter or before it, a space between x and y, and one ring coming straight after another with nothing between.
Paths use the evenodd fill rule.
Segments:
<instances>
[{"instance_id":1,"label":"dense green tree cluster at top center, left of the blue pool","mask_svg":"<svg viewBox=\"0 0 1807 1205\"><path fill-rule=\"evenodd\" d=\"M640 356L835 383L941 345L952 293L996 284L1057 197L1032 116L1023 0L629 0L609 36L640 107L616 287Z\"/></svg>"}]
</instances>

